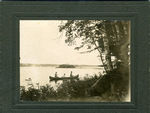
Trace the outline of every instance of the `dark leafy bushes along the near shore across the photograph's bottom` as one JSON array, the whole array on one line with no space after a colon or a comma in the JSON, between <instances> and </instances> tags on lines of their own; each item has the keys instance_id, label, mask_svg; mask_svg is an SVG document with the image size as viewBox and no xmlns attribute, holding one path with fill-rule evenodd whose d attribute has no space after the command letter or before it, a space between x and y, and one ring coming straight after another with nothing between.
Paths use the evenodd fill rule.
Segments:
<instances>
[{"instance_id":1,"label":"dark leafy bushes along the near shore across the photograph's bottom","mask_svg":"<svg viewBox=\"0 0 150 113\"><path fill-rule=\"evenodd\" d=\"M102 77L102 76L100 76ZM107 80L103 76L103 83ZM20 90L20 100L22 101L122 101L126 91L115 90L111 93L109 88L101 87L105 92L98 94L96 90L90 87L97 81L97 75L93 77L84 77L83 80L64 81L56 90L50 85L45 85L39 89L29 88ZM107 82L109 82L107 80ZM117 81L119 82L119 80ZM118 85L117 85L118 86ZM116 87L117 88L117 87ZM102 90L101 89L101 90ZM119 88L117 88L119 89ZM97 94L97 95L95 95Z\"/></svg>"}]
</instances>

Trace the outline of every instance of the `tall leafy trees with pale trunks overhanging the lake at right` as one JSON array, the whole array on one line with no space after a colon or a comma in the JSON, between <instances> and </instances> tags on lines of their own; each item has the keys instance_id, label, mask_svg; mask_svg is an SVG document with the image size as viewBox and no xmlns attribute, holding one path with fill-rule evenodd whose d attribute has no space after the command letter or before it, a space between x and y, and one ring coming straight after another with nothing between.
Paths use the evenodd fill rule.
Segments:
<instances>
[{"instance_id":1,"label":"tall leafy trees with pale trunks overhanging the lake at right","mask_svg":"<svg viewBox=\"0 0 150 113\"><path fill-rule=\"evenodd\" d=\"M81 53L97 50L110 78L115 78L116 70L122 72L121 76L124 80L127 78L129 75L129 21L68 20L59 27L60 32L65 31L65 42L69 46L76 45L76 42L80 40L81 43L75 49L87 48L87 51Z\"/></svg>"}]
</instances>

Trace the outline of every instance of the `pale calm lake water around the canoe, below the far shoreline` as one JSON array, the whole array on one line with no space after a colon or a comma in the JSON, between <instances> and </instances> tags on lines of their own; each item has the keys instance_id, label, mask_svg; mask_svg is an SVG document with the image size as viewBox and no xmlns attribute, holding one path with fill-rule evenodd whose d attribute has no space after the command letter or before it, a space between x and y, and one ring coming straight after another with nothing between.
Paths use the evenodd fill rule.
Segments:
<instances>
[{"instance_id":1,"label":"pale calm lake water around the canoe, below the far shoreline","mask_svg":"<svg viewBox=\"0 0 150 113\"><path fill-rule=\"evenodd\" d=\"M54 81L49 82L49 76L54 77L55 72L58 73L58 77L62 77L64 74L66 77L70 76L70 72L73 72L73 75L79 74L79 79L83 79L85 76L94 76L95 74L99 74L103 72L103 68L100 67L87 67L87 68L55 68L55 67L21 67L20 68L20 85L27 86L29 81L25 79L31 78L33 85L36 87L36 83L42 85L52 85L57 87L62 83L62 81L58 81L55 83ZM31 82L31 81L30 81Z\"/></svg>"}]
</instances>

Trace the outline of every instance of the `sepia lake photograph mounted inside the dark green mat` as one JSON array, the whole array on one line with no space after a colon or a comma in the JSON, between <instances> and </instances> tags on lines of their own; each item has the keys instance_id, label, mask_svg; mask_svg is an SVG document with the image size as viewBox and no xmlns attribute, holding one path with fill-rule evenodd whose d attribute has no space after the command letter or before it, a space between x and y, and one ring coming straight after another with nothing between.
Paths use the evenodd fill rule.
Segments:
<instances>
[{"instance_id":1,"label":"sepia lake photograph mounted inside the dark green mat","mask_svg":"<svg viewBox=\"0 0 150 113\"><path fill-rule=\"evenodd\" d=\"M128 20L20 20L20 101L130 102Z\"/></svg>"}]
</instances>

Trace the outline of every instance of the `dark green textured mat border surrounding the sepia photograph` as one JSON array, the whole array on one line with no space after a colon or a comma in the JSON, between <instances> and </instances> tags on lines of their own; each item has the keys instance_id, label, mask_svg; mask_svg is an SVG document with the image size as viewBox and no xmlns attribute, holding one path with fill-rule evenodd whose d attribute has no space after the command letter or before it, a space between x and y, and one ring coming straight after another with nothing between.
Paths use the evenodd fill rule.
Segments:
<instances>
[{"instance_id":1,"label":"dark green textured mat border surrounding the sepia photograph","mask_svg":"<svg viewBox=\"0 0 150 113\"><path fill-rule=\"evenodd\" d=\"M149 2L1 2L0 113L148 113ZM131 21L131 102L20 102L19 20Z\"/></svg>"}]
</instances>

